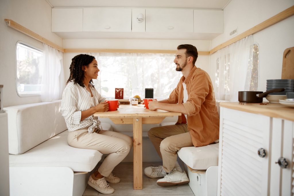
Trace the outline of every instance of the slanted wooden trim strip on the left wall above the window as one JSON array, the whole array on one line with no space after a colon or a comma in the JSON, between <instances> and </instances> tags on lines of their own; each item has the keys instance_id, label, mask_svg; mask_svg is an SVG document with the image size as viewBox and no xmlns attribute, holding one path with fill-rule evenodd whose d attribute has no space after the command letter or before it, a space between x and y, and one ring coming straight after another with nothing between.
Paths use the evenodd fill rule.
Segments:
<instances>
[{"instance_id":1,"label":"slanted wooden trim strip on the left wall above the window","mask_svg":"<svg viewBox=\"0 0 294 196\"><path fill-rule=\"evenodd\" d=\"M38 35L37 33L27 29L26 27L21 26L20 24L14 22L13 20L4 19L4 21L6 22L7 26L10 26L11 28L16 29L17 31L20 31L21 33L24 33L32 38L35 38L36 40L41 41L42 43L46 43L47 45L52 46L53 48L56 48L57 50L61 52L64 52L64 49L62 47Z\"/></svg>"}]
</instances>

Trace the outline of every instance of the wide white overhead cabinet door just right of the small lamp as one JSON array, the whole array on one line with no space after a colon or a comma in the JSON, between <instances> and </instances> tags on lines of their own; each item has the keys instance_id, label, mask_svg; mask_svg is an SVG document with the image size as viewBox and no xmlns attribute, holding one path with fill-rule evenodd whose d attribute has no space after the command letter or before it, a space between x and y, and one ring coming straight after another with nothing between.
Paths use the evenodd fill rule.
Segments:
<instances>
[{"instance_id":1,"label":"wide white overhead cabinet door just right of the small lamp","mask_svg":"<svg viewBox=\"0 0 294 196\"><path fill-rule=\"evenodd\" d=\"M146 32L193 32L193 10L146 9Z\"/></svg>"}]
</instances>

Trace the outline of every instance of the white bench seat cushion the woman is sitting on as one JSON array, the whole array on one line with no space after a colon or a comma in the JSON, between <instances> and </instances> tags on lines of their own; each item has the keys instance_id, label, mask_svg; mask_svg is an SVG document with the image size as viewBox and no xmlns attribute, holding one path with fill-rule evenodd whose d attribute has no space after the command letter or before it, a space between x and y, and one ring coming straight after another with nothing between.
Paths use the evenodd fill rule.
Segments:
<instances>
[{"instance_id":1,"label":"white bench seat cushion the woman is sitting on","mask_svg":"<svg viewBox=\"0 0 294 196\"><path fill-rule=\"evenodd\" d=\"M9 167L70 167L74 172L90 172L101 160L97 150L74 148L64 131L22 155L9 155ZM21 174L20 174L21 175Z\"/></svg>"}]
</instances>

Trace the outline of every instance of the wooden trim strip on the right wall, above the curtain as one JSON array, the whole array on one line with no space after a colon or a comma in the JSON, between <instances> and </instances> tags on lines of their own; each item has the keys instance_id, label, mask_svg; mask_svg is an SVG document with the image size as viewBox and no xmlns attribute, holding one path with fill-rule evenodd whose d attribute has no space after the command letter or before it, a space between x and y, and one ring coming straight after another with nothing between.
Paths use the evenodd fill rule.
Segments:
<instances>
[{"instance_id":1,"label":"wooden trim strip on the right wall, above the curtain","mask_svg":"<svg viewBox=\"0 0 294 196\"><path fill-rule=\"evenodd\" d=\"M258 31L261 31L285 18L288 18L289 16L292 16L294 14L294 6L291 6L290 8L288 9L285 9L284 11L280 12L279 14L276 14L275 16L263 21L262 23L252 27L251 29L241 33L240 35L232 38L232 39L229 39L228 41L216 46L215 48L213 48L211 51L209 51L209 54L213 54L215 53L216 51L232 44L232 43L235 43L236 41L239 41L249 35L252 35Z\"/></svg>"}]
</instances>

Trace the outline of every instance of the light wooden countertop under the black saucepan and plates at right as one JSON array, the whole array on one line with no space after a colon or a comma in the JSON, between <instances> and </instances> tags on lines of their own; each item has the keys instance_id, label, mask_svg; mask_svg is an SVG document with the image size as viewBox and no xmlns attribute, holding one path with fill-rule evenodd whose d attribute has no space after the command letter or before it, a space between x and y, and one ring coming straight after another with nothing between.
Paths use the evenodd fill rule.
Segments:
<instances>
[{"instance_id":1,"label":"light wooden countertop under the black saucepan and plates at right","mask_svg":"<svg viewBox=\"0 0 294 196\"><path fill-rule=\"evenodd\" d=\"M241 105L239 102L221 102L220 107L294 121L294 108L281 105L280 103Z\"/></svg>"}]
</instances>

